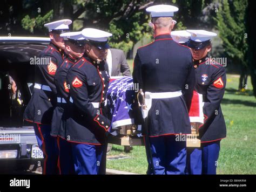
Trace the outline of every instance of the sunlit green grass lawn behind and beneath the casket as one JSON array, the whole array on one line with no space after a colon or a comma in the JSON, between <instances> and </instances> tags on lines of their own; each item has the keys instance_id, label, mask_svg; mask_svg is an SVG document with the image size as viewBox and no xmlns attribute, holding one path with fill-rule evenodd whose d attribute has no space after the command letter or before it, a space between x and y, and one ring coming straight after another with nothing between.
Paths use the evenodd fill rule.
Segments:
<instances>
[{"instance_id":1,"label":"sunlit green grass lawn behind and beneath the casket","mask_svg":"<svg viewBox=\"0 0 256 192\"><path fill-rule=\"evenodd\" d=\"M130 67L132 61L128 60ZM131 68L132 69L132 68ZM227 138L221 141L217 174L256 174L256 99L248 89L237 92L239 77L228 74L221 107L227 126ZM143 146L134 146L124 153L123 146L113 145L109 156L125 155L127 159L107 160L107 168L145 174L146 153Z\"/></svg>"}]
</instances>

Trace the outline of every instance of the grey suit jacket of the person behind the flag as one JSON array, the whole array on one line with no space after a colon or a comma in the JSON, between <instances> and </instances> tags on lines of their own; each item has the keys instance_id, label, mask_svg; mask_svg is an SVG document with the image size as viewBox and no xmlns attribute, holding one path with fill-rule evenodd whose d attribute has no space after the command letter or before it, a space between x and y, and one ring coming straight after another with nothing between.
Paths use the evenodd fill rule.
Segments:
<instances>
[{"instance_id":1,"label":"grey suit jacket of the person behind the flag","mask_svg":"<svg viewBox=\"0 0 256 192\"><path fill-rule=\"evenodd\" d=\"M112 54L111 76L131 76L131 71L125 59L124 52L120 49L110 49Z\"/></svg>"}]
</instances>

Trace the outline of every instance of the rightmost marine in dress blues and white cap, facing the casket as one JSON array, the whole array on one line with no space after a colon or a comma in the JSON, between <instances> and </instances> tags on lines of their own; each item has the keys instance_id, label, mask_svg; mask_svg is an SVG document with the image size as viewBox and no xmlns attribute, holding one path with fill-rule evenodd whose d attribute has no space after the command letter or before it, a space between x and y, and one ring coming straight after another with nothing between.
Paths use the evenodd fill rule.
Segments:
<instances>
[{"instance_id":1,"label":"rightmost marine in dress blues and white cap, facing the casket","mask_svg":"<svg viewBox=\"0 0 256 192\"><path fill-rule=\"evenodd\" d=\"M217 34L205 30L187 31L191 33L188 46L191 48L196 69L194 90L203 94L205 117L204 124L199 127L201 147L188 149L187 172L216 174L220 141L226 137L226 125L220 107L225 92L226 72L221 64L211 60L207 55L211 50L211 38ZM202 58L198 58L197 50L205 52Z\"/></svg>"}]
</instances>

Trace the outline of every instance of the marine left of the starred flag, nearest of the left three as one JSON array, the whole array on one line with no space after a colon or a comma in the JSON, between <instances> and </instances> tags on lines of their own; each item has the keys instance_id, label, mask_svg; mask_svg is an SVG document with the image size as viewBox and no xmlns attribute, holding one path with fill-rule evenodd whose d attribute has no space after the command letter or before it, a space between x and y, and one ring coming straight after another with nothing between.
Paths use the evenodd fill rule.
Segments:
<instances>
[{"instance_id":1,"label":"marine left of the starred flag, nearest of the left three","mask_svg":"<svg viewBox=\"0 0 256 192\"><path fill-rule=\"evenodd\" d=\"M110 128L107 119L106 92L110 76L104 61L109 49L107 37L111 33L87 28L85 55L69 70L70 107L66 117L65 139L72 143L76 174L98 174L102 162L106 134Z\"/></svg>"}]
</instances>

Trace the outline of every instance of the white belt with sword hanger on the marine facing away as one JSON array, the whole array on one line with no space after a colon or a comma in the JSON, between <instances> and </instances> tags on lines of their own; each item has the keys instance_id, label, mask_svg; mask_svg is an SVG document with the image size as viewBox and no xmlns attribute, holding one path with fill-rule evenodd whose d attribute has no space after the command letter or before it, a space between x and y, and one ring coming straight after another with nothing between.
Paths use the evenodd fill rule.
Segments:
<instances>
[{"instance_id":1,"label":"white belt with sword hanger on the marine facing away","mask_svg":"<svg viewBox=\"0 0 256 192\"><path fill-rule=\"evenodd\" d=\"M142 116L145 119L147 117L147 114L149 113L149 109L152 105L152 99L166 99L166 98L174 98L179 97L182 95L181 90L175 91L175 92L162 92L162 93L151 93L151 92L145 92L145 105L147 106L147 109L142 108Z\"/></svg>"}]
</instances>

